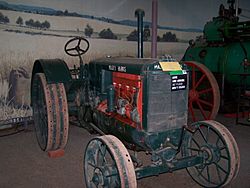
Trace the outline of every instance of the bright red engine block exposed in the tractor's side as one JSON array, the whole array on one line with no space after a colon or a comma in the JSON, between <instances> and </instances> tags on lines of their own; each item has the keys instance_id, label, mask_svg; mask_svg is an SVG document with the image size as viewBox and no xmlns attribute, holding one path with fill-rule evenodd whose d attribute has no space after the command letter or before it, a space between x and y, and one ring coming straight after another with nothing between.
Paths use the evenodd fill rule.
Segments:
<instances>
[{"instance_id":1,"label":"bright red engine block exposed in the tractor's side","mask_svg":"<svg viewBox=\"0 0 250 188\"><path fill-rule=\"evenodd\" d=\"M107 112L107 100L97 110L112 115L132 127L142 128L142 80L140 75L113 72L115 88L115 112Z\"/></svg>"}]
</instances>

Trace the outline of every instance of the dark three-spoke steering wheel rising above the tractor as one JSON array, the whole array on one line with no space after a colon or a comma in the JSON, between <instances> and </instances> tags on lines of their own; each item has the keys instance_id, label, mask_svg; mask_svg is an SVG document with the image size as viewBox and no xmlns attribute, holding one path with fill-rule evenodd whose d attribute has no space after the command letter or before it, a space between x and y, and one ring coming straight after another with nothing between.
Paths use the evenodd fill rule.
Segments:
<instances>
[{"instance_id":1,"label":"dark three-spoke steering wheel rising above the tractor","mask_svg":"<svg viewBox=\"0 0 250 188\"><path fill-rule=\"evenodd\" d=\"M71 47L73 42L77 42L75 43L75 47ZM86 43L86 47L85 49L81 48L81 42L84 41ZM70 45L71 44L71 45ZM83 37L75 37L73 39L70 39L64 46L64 51L66 52L66 54L70 55L70 56L81 56L83 54L85 54L89 49L89 41Z\"/></svg>"}]
</instances>

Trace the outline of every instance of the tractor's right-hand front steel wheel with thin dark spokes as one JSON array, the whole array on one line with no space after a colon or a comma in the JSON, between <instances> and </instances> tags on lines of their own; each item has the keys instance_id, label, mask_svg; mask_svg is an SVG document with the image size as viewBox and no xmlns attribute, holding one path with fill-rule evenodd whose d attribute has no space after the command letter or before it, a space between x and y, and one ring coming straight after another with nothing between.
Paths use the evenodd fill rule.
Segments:
<instances>
[{"instance_id":1,"label":"tractor's right-hand front steel wheel with thin dark spokes","mask_svg":"<svg viewBox=\"0 0 250 188\"><path fill-rule=\"evenodd\" d=\"M190 176L204 187L223 187L238 174L240 153L231 133L222 124L208 120L192 124L194 132L185 136L184 157L203 156L202 164L187 168Z\"/></svg>"}]
</instances>

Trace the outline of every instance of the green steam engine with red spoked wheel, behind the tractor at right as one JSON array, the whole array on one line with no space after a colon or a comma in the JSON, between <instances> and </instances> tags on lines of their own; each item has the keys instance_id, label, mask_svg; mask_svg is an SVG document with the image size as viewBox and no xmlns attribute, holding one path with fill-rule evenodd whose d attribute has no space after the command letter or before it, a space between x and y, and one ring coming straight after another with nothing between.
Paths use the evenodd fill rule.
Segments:
<instances>
[{"instance_id":1,"label":"green steam engine with red spoked wheel, behind the tractor at right","mask_svg":"<svg viewBox=\"0 0 250 188\"><path fill-rule=\"evenodd\" d=\"M216 98L220 94L216 80L207 74L207 70L218 81L222 107L237 97L237 87L242 84L248 89L250 87L250 21L239 22L241 9L238 3L235 5L234 0L228 0L228 3L228 9L221 5L219 16L206 23L203 37L190 41L182 59L198 77L191 77L195 84L190 90L190 105L195 103L199 108L209 108L211 114L218 111L220 100ZM204 83L197 81L202 77L210 79L209 90L204 89ZM201 98L203 101L199 102Z\"/></svg>"}]
</instances>

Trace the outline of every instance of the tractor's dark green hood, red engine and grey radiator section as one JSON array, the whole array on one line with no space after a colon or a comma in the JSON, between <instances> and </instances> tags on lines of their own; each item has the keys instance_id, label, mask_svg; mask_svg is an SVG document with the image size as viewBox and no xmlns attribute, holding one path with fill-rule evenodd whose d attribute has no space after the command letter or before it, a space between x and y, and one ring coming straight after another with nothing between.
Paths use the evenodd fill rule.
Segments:
<instances>
[{"instance_id":1,"label":"tractor's dark green hood, red engine and grey radiator section","mask_svg":"<svg viewBox=\"0 0 250 188\"><path fill-rule=\"evenodd\" d=\"M188 76L178 62L104 58L89 63L93 122L129 143L158 148L173 142L187 122ZM140 135L142 134L142 135ZM147 143L141 136L155 137ZM173 138L171 138L173 137ZM150 138L151 139L151 138ZM160 141L159 141L160 139ZM162 140L161 140L162 139ZM175 140L178 145L179 139Z\"/></svg>"}]
</instances>

